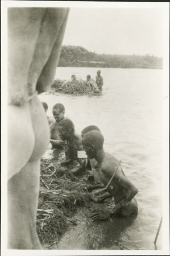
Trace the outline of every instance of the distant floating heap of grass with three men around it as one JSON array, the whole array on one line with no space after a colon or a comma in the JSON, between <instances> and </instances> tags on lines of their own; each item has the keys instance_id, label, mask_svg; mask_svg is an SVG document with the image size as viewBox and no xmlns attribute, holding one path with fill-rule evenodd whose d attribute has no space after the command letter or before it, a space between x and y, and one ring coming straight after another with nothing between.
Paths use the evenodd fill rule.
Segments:
<instances>
[{"instance_id":1,"label":"distant floating heap of grass with three men around it","mask_svg":"<svg viewBox=\"0 0 170 256\"><path fill-rule=\"evenodd\" d=\"M67 94L82 95L92 94L87 82L82 79L76 81L65 81L57 79L51 86L51 93L62 92Z\"/></svg>"}]
</instances>

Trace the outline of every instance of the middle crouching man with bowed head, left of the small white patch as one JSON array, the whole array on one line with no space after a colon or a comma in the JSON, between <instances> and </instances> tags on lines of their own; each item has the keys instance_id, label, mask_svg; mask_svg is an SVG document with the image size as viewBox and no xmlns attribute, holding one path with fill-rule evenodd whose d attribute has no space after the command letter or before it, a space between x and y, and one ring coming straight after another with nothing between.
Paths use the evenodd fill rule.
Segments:
<instances>
[{"instance_id":1,"label":"middle crouching man with bowed head, left of the small white patch","mask_svg":"<svg viewBox=\"0 0 170 256\"><path fill-rule=\"evenodd\" d=\"M81 136L75 133L73 122L70 119L63 119L59 123L59 133L63 141L67 141L67 148L65 148L66 158L61 161L61 164L69 164L74 160L80 163L80 166L72 169L74 174L85 170L88 159L79 159L78 151L82 151L82 139Z\"/></svg>"}]
</instances>

